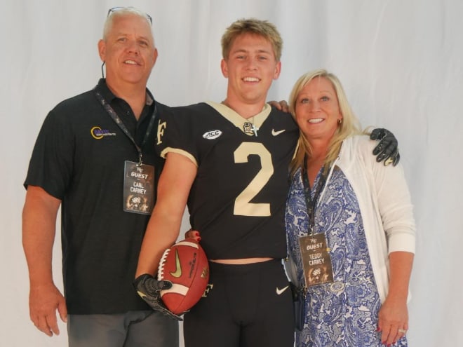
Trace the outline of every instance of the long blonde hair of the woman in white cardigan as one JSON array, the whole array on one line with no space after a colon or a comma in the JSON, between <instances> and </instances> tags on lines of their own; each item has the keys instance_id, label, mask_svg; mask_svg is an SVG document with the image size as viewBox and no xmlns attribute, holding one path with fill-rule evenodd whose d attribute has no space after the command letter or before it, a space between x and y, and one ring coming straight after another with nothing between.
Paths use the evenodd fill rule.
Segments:
<instances>
[{"instance_id":1,"label":"long blonde hair of the woman in white cardigan","mask_svg":"<svg viewBox=\"0 0 463 347\"><path fill-rule=\"evenodd\" d=\"M328 153L326 154L324 162L325 170L328 170L340 152L342 141L349 136L361 134L361 125L358 121L358 118L352 111L349 102L347 101L347 96L344 92L344 88L342 88L340 80L337 79L337 76L327 72L325 69L317 69L312 72L307 72L306 74L300 76L300 78L296 81L289 97L290 112L293 115L294 120L296 121L296 102L300 91L302 88L304 88L304 86L307 86L307 83L320 77L330 81L330 83L333 85L333 88L335 88L337 101L339 102L340 111L342 114L342 122L338 123L337 130L335 131L335 134L333 135L333 138L331 139L328 146ZM303 167L306 154L310 157L311 153L311 146L304 134L300 131L299 140L297 140L295 157L290 163L290 171L292 175L294 175L298 168Z\"/></svg>"}]
</instances>

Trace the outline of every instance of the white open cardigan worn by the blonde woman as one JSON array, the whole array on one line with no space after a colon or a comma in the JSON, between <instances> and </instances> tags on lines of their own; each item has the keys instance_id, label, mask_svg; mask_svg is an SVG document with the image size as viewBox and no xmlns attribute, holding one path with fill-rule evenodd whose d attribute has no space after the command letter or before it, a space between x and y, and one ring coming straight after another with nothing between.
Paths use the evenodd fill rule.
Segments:
<instances>
[{"instance_id":1,"label":"white open cardigan worn by the blonde woman","mask_svg":"<svg viewBox=\"0 0 463 347\"><path fill-rule=\"evenodd\" d=\"M376 144L365 135L347 138L342 142L335 165L344 172L356 193L373 274L383 302L389 288L389 253L415 253L415 220L402 165L377 163L372 154Z\"/></svg>"}]
</instances>

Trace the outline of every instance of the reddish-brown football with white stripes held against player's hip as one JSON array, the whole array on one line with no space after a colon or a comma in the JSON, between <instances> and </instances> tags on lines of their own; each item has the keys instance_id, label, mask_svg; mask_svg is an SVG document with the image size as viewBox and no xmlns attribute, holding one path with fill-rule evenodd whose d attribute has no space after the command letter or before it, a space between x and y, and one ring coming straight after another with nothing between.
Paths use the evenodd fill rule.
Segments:
<instances>
[{"instance_id":1,"label":"reddish-brown football with white stripes held against player's hip","mask_svg":"<svg viewBox=\"0 0 463 347\"><path fill-rule=\"evenodd\" d=\"M166 307L181 315L204 294L209 280L208 258L194 238L175 243L164 251L159 261L158 280L169 280L172 287L161 290Z\"/></svg>"}]
</instances>

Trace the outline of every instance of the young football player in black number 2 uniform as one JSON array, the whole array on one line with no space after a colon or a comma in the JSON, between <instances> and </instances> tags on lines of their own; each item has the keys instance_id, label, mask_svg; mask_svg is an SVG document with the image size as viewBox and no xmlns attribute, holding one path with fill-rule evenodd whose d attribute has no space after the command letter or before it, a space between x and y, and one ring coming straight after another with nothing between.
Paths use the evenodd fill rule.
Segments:
<instances>
[{"instance_id":1,"label":"young football player in black number 2 uniform","mask_svg":"<svg viewBox=\"0 0 463 347\"><path fill-rule=\"evenodd\" d=\"M282 40L262 20L238 20L222 36L222 104L161 115L158 150L166 164L142 243L134 285L166 313L152 274L180 231L188 203L210 259L210 290L184 315L187 347L293 346L292 297L283 212L288 165L299 129L265 100L281 71ZM174 115L174 116L173 116Z\"/></svg>"}]
</instances>

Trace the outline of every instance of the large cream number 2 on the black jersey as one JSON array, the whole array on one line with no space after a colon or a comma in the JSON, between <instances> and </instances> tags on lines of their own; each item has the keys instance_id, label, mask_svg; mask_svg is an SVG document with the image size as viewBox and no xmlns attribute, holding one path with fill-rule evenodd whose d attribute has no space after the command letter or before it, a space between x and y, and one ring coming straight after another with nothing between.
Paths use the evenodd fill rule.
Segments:
<instances>
[{"instance_id":1,"label":"large cream number 2 on the black jersey","mask_svg":"<svg viewBox=\"0 0 463 347\"><path fill-rule=\"evenodd\" d=\"M270 215L269 203L250 203L250 200L264 188L274 174L274 165L271 163L271 154L263 144L257 142L243 142L234 151L235 163L248 163L248 156L254 154L260 158L261 169L235 199L234 215L251 217L268 217Z\"/></svg>"}]
</instances>

